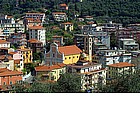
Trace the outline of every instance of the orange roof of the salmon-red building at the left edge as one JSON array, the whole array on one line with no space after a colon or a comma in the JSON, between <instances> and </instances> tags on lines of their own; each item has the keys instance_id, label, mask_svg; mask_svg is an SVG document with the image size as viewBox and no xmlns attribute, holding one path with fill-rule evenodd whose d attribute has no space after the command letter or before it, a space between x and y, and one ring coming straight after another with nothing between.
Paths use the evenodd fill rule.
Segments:
<instances>
[{"instance_id":1,"label":"orange roof of the salmon-red building at the left edge","mask_svg":"<svg viewBox=\"0 0 140 140\"><path fill-rule=\"evenodd\" d=\"M22 72L19 71L11 71L11 70L7 70L7 71L3 71L0 73L0 77L2 76L14 76L14 75L23 75Z\"/></svg>"}]
</instances>

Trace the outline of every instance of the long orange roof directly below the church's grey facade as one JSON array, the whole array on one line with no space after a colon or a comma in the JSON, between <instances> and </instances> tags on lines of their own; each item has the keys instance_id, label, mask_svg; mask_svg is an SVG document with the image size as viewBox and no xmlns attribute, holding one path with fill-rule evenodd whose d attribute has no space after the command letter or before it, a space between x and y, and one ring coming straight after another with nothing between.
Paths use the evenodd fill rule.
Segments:
<instances>
[{"instance_id":1,"label":"long orange roof directly below the church's grey facade","mask_svg":"<svg viewBox=\"0 0 140 140\"><path fill-rule=\"evenodd\" d=\"M39 72L39 71L52 71L52 70L55 70L55 69L61 69L63 67L65 67L66 65L65 64L57 64L57 65L52 65L52 66L38 66L38 67L35 67L35 71Z\"/></svg>"}]
</instances>

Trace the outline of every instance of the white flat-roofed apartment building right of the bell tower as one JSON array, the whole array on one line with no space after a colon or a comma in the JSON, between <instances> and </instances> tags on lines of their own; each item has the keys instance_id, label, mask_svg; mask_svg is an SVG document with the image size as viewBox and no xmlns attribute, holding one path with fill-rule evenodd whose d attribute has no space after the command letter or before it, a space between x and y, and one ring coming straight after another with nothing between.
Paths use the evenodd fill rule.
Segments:
<instances>
[{"instance_id":1,"label":"white flat-roofed apartment building right of the bell tower","mask_svg":"<svg viewBox=\"0 0 140 140\"><path fill-rule=\"evenodd\" d=\"M101 63L103 68L119 62L131 63L131 53L125 50L100 50L94 55L93 61Z\"/></svg>"}]
</instances>

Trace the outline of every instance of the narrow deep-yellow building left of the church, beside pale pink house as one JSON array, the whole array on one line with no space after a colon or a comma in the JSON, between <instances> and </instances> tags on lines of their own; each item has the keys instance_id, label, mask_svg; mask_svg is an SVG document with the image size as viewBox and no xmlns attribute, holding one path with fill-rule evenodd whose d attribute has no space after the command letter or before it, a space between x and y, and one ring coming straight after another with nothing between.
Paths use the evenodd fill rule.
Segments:
<instances>
[{"instance_id":1,"label":"narrow deep-yellow building left of the church, beside pale pink house","mask_svg":"<svg viewBox=\"0 0 140 140\"><path fill-rule=\"evenodd\" d=\"M24 64L32 63L33 61L33 53L32 49L25 48L25 46L21 46L20 49L17 49L23 55L23 62Z\"/></svg>"}]
</instances>

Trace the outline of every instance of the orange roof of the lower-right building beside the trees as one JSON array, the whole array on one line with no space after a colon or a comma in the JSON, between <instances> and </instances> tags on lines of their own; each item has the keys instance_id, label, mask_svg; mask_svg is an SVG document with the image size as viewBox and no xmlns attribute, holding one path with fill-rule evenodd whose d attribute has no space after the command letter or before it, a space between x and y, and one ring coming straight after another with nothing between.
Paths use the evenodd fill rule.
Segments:
<instances>
[{"instance_id":1,"label":"orange roof of the lower-right building beside the trees","mask_svg":"<svg viewBox=\"0 0 140 140\"><path fill-rule=\"evenodd\" d=\"M108 65L109 67L117 67L117 68L123 68L123 67L134 67L134 64L127 63L127 62L120 62L120 63L115 63Z\"/></svg>"}]
</instances>

